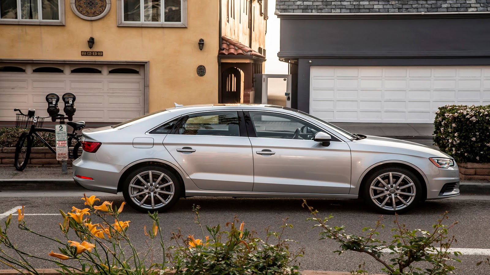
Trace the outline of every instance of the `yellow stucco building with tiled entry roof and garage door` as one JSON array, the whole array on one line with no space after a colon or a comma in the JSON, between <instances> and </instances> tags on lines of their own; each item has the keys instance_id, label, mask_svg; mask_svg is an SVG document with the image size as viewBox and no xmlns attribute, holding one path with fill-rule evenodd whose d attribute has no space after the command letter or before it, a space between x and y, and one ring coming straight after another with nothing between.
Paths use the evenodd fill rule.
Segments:
<instances>
[{"instance_id":1,"label":"yellow stucco building with tiled entry roof and garage door","mask_svg":"<svg viewBox=\"0 0 490 275\"><path fill-rule=\"evenodd\" d=\"M91 122L173 102L249 102L263 69L267 0L22 3L0 0L0 121L14 120L13 108L43 115L49 92L73 92L76 119Z\"/></svg>"}]
</instances>

